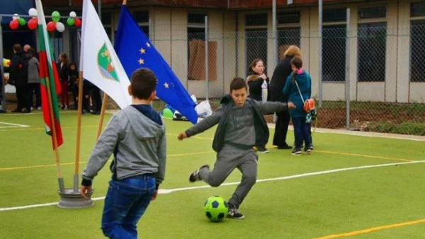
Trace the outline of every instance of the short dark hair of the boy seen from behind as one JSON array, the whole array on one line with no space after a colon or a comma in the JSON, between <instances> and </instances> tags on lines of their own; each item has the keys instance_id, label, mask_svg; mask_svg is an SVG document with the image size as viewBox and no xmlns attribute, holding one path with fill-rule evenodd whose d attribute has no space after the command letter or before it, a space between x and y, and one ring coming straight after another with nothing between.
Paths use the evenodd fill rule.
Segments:
<instances>
[{"instance_id":1,"label":"short dark hair of the boy seen from behind","mask_svg":"<svg viewBox=\"0 0 425 239\"><path fill-rule=\"evenodd\" d=\"M131 74L131 91L135 98L148 100L157 86L157 76L147 69L140 68Z\"/></svg>"}]
</instances>

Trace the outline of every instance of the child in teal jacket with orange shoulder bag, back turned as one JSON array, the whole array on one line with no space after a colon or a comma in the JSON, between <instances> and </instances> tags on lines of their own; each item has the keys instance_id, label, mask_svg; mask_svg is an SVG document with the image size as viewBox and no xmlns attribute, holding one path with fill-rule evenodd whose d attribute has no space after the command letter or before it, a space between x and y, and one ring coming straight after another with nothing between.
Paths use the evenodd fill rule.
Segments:
<instances>
[{"instance_id":1,"label":"child in teal jacket with orange shoulder bag, back turned","mask_svg":"<svg viewBox=\"0 0 425 239\"><path fill-rule=\"evenodd\" d=\"M287 95L289 101L295 105L295 108L289 110L295 136L295 148L292 154L293 156L300 156L303 142L305 143L305 153L311 152L311 141L305 122L307 112L303 110L303 105L304 100L310 99L312 95L312 78L302 69L302 59L300 57L294 57L291 64L293 73L286 79L283 94Z\"/></svg>"}]
</instances>

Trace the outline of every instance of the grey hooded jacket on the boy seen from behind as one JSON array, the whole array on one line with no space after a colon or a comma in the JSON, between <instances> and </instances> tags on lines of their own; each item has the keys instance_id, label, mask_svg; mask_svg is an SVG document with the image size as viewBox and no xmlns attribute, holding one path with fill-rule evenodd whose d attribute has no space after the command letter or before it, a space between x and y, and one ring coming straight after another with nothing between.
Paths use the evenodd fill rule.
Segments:
<instances>
[{"instance_id":1,"label":"grey hooded jacket on the boy seen from behind","mask_svg":"<svg viewBox=\"0 0 425 239\"><path fill-rule=\"evenodd\" d=\"M131 105L113 115L91 152L82 174L93 180L114 154L115 177L122 180L135 175L154 174L157 184L164 180L166 136L159 125Z\"/></svg>"}]
</instances>

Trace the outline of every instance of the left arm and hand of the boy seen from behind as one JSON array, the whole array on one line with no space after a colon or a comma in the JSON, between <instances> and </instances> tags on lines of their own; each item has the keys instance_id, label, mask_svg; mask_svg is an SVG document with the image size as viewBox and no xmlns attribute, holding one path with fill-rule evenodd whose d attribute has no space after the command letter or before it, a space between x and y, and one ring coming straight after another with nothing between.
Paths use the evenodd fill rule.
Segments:
<instances>
[{"instance_id":1,"label":"left arm and hand of the boy seen from behind","mask_svg":"<svg viewBox=\"0 0 425 239\"><path fill-rule=\"evenodd\" d=\"M83 181L81 185L91 186L91 180L98 174L98 171L103 168L108 158L113 153L120 136L120 120L117 115L113 115L106 126L105 131L101 134L96 145L91 151L89 162L82 173Z\"/></svg>"}]
</instances>

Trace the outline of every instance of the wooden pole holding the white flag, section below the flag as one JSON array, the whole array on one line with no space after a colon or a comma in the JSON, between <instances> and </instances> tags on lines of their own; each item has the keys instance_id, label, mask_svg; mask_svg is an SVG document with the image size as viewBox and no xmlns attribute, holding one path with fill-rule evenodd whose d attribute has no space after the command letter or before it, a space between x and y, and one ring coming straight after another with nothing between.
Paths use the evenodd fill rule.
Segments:
<instances>
[{"instance_id":1,"label":"wooden pole holding the white flag, section below the flag","mask_svg":"<svg viewBox=\"0 0 425 239\"><path fill-rule=\"evenodd\" d=\"M78 107L77 107L77 140L75 146L75 167L74 167L74 192L79 192L79 159L80 159L80 145L81 145L81 112L83 108L83 71L79 71L78 82Z\"/></svg>"}]
</instances>

